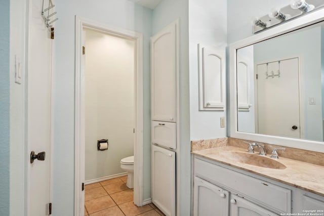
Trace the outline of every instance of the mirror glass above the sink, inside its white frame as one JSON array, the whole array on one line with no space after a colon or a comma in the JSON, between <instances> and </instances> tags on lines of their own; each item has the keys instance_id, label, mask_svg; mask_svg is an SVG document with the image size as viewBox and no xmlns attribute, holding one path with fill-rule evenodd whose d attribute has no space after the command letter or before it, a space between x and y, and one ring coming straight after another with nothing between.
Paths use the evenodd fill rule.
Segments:
<instances>
[{"instance_id":1,"label":"mirror glass above the sink, inside its white frame","mask_svg":"<svg viewBox=\"0 0 324 216\"><path fill-rule=\"evenodd\" d=\"M236 54L237 131L323 141L324 22Z\"/></svg>"}]
</instances>

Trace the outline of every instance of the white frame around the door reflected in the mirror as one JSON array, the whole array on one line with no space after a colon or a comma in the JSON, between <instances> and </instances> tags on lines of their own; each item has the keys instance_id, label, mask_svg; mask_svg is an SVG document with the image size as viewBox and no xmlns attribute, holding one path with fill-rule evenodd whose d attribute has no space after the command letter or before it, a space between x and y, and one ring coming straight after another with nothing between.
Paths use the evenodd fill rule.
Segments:
<instances>
[{"instance_id":1,"label":"white frame around the door reflected in the mirror","mask_svg":"<svg viewBox=\"0 0 324 216\"><path fill-rule=\"evenodd\" d=\"M259 122L258 122L258 80L257 80L257 66L260 64L265 64L269 62L285 61L290 59L298 59L298 89L299 89L299 129L300 129L300 138L305 139L305 108L304 108L304 85L301 80L303 80L303 71L302 71L302 57L301 55L286 56L282 58L272 58L254 64L254 86L255 86L255 132L259 133Z\"/></svg>"}]
</instances>

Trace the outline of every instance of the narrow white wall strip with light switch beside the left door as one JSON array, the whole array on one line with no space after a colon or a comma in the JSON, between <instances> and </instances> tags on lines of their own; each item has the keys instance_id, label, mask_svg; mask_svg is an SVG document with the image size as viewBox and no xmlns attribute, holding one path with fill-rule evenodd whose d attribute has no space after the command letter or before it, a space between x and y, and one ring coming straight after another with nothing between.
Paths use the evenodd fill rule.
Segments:
<instances>
[{"instance_id":1,"label":"narrow white wall strip with light switch beside the left door","mask_svg":"<svg viewBox=\"0 0 324 216\"><path fill-rule=\"evenodd\" d=\"M10 1L10 214L26 212L25 190L25 51L26 6L24 0ZM21 84L15 83L15 56L20 63ZM18 207L19 206L19 207ZM0 211L1 214L1 211ZM5 214L1 214L5 215Z\"/></svg>"}]
</instances>

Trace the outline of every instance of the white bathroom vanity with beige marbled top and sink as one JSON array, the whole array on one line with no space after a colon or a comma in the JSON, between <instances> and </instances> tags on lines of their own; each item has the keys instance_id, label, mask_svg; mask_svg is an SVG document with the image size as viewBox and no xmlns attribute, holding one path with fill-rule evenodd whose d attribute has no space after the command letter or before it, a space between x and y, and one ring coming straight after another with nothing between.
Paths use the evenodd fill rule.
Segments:
<instances>
[{"instance_id":1,"label":"white bathroom vanity with beige marbled top and sink","mask_svg":"<svg viewBox=\"0 0 324 216\"><path fill-rule=\"evenodd\" d=\"M324 215L324 166L234 146L192 155L193 215Z\"/></svg>"}]
</instances>

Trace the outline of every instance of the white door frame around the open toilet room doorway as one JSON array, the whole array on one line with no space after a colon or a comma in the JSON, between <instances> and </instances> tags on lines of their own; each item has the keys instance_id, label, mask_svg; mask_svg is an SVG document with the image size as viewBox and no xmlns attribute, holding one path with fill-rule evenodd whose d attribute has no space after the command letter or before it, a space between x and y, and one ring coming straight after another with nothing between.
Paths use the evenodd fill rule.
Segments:
<instances>
[{"instance_id":1,"label":"white door frame around the open toilet room doorway","mask_svg":"<svg viewBox=\"0 0 324 216\"><path fill-rule=\"evenodd\" d=\"M107 26L89 19L75 16L75 104L74 104L74 215L84 211L85 182L85 68L82 65L83 30L131 39L135 42L134 99L134 203L143 205L143 35L135 31Z\"/></svg>"}]
</instances>

